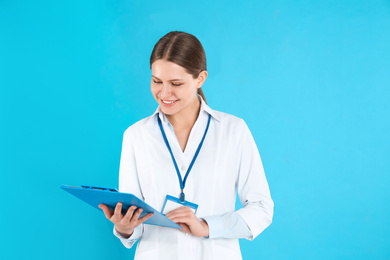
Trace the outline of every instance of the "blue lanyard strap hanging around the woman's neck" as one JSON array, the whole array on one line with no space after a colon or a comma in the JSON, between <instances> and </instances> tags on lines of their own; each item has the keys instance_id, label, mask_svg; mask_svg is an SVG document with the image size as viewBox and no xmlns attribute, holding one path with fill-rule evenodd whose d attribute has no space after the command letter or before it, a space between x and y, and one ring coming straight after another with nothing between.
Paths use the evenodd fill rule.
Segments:
<instances>
[{"instance_id":1,"label":"blue lanyard strap hanging around the woman's neck","mask_svg":"<svg viewBox=\"0 0 390 260\"><path fill-rule=\"evenodd\" d=\"M163 126L162 126L162 124L161 124L161 119L160 119L159 115L157 115L158 125L160 126L161 134L163 135L165 144L167 145L167 148L168 148L168 150L169 150L169 152L170 152L170 154L171 154L173 164L175 165L177 177L179 178L180 189L181 189L181 193L180 193L180 201L181 201L181 202L184 202L184 201L185 201L184 187L185 187L185 185L186 185L187 177L188 177L188 174L190 173L190 171L191 171L191 169L192 169L192 166L193 166L194 163L195 163L196 158L198 157L200 148L202 148L203 141L204 141L204 139L205 139L205 137L206 137L207 131L209 130L210 119L211 119L211 115L209 115L209 120L207 121L207 127L206 127L206 131L204 132L202 141L200 141L199 146L198 146L198 149L196 149L194 158L193 158L192 161L191 161L190 167L188 167L188 170L187 170L187 172L186 172L186 175L184 176L184 181L183 181L182 178L181 178L181 174L180 174L179 168L177 167L177 163L176 163L175 157L173 156L171 146L169 145L167 136L165 135L164 128L163 128Z\"/></svg>"}]
</instances>

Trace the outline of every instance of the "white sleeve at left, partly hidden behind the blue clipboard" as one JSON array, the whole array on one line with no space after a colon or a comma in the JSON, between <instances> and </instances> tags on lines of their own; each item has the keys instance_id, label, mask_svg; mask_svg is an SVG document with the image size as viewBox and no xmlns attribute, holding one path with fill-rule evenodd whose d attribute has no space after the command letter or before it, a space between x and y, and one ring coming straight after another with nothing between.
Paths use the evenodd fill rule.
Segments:
<instances>
[{"instance_id":1,"label":"white sleeve at left, partly hidden behind the blue clipboard","mask_svg":"<svg viewBox=\"0 0 390 260\"><path fill-rule=\"evenodd\" d=\"M133 142L136 138L136 133L131 129L127 129L123 135L122 153L119 168L119 191L132 193L140 199L144 199L141 187L138 180L138 172L136 159L134 154ZM131 248L134 243L142 237L143 224L134 229L133 234L129 238L122 237L114 227L114 235L120 239L122 244Z\"/></svg>"}]
</instances>

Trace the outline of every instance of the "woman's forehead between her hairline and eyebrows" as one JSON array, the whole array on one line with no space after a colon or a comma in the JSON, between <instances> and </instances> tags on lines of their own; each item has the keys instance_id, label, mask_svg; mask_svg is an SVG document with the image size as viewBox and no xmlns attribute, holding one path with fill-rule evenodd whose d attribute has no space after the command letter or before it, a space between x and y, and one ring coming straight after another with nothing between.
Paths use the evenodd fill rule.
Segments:
<instances>
[{"instance_id":1,"label":"woman's forehead between her hairline and eyebrows","mask_svg":"<svg viewBox=\"0 0 390 260\"><path fill-rule=\"evenodd\" d=\"M166 60L156 60L153 62L152 75L161 80L186 79L191 77L185 68Z\"/></svg>"}]
</instances>

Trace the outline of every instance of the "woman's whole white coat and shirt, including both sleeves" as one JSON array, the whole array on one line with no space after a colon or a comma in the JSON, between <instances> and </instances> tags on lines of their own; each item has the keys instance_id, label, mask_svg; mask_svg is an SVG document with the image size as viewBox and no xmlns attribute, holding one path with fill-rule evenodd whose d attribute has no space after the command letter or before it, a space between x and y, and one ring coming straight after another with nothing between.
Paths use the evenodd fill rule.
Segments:
<instances>
[{"instance_id":1,"label":"woman's whole white coat and shirt, including both sleeves","mask_svg":"<svg viewBox=\"0 0 390 260\"><path fill-rule=\"evenodd\" d=\"M199 98L200 113L184 152L159 108L125 131L119 191L132 193L157 210L162 209L166 195L179 197L178 176L157 116L184 179L211 115L208 133L184 189L186 200L199 205L196 216L207 221L209 237L142 224L124 239L114 229L128 248L140 239L137 260L242 259L238 238L252 240L272 222L273 201L247 125L240 118L212 110ZM243 208L235 211L237 192Z\"/></svg>"}]
</instances>

